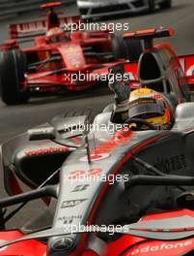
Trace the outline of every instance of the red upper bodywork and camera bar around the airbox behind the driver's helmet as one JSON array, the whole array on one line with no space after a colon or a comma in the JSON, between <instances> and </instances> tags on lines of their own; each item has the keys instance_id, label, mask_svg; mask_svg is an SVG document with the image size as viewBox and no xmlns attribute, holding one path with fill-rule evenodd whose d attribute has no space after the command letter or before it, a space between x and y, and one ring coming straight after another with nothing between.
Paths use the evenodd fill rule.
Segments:
<instances>
[{"instance_id":1,"label":"red upper bodywork and camera bar around the airbox behind the driver's helmet","mask_svg":"<svg viewBox=\"0 0 194 256\"><path fill-rule=\"evenodd\" d=\"M148 29L142 31L136 31L133 33L125 33L124 38L137 39L145 41L144 53L154 52L157 50L161 56L160 62L169 63L172 68L172 74L170 77L176 75L176 80L179 81L179 85L188 84L191 91L194 90L194 54L180 55L178 56L176 51L168 44L162 43L153 45L153 39L162 37L172 37L175 31L173 28L165 29ZM130 82L132 88L138 88L140 86L138 63L128 63L125 65L125 71L130 74ZM183 71L183 73L182 73ZM154 73L154 71L152 71ZM175 74L174 74L175 73ZM181 75L179 73L182 73Z\"/></svg>"}]
</instances>

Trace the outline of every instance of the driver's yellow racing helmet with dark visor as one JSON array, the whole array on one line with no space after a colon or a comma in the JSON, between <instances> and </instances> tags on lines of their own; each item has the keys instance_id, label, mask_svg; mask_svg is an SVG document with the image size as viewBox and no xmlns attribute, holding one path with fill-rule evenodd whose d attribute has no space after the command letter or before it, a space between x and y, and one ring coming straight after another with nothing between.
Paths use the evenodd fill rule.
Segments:
<instances>
[{"instance_id":1,"label":"driver's yellow racing helmet with dark visor","mask_svg":"<svg viewBox=\"0 0 194 256\"><path fill-rule=\"evenodd\" d=\"M128 117L143 119L158 130L168 130L172 126L171 109L164 96L148 88L137 89L130 93ZM130 127L133 125L137 130L149 129L143 124L137 127L137 123L131 124Z\"/></svg>"}]
</instances>

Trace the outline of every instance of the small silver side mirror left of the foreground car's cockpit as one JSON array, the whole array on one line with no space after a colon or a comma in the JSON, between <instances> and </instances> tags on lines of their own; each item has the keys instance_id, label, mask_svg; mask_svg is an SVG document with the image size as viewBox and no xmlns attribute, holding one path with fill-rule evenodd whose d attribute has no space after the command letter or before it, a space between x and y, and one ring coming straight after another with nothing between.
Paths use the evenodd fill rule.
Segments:
<instances>
[{"instance_id":1,"label":"small silver side mirror left of the foreground car's cockpit","mask_svg":"<svg viewBox=\"0 0 194 256\"><path fill-rule=\"evenodd\" d=\"M56 131L53 126L34 128L28 130L28 136L30 141L54 140Z\"/></svg>"}]
</instances>

